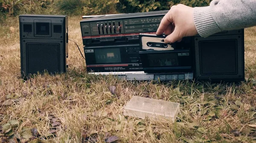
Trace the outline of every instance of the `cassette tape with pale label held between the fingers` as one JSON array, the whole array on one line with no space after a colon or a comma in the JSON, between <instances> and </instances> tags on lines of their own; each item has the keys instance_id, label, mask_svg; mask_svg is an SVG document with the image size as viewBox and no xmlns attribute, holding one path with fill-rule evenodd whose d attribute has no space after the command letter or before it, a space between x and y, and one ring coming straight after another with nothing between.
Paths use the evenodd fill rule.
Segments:
<instances>
[{"instance_id":1,"label":"cassette tape with pale label held between the fingers","mask_svg":"<svg viewBox=\"0 0 256 143\"><path fill-rule=\"evenodd\" d=\"M141 50L174 50L175 43L165 43L166 36L156 34L140 34Z\"/></svg>"}]
</instances>

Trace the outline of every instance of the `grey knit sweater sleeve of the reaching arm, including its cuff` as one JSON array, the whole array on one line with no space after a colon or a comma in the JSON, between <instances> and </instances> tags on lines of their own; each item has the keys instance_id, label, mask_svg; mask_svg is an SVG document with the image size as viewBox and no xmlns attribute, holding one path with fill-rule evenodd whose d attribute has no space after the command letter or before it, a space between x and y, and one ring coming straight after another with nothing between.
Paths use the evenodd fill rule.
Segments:
<instances>
[{"instance_id":1,"label":"grey knit sweater sleeve of the reaching arm, including its cuff","mask_svg":"<svg viewBox=\"0 0 256 143\"><path fill-rule=\"evenodd\" d=\"M224 30L256 25L256 0L212 0L193 11L198 34L207 37Z\"/></svg>"}]
</instances>

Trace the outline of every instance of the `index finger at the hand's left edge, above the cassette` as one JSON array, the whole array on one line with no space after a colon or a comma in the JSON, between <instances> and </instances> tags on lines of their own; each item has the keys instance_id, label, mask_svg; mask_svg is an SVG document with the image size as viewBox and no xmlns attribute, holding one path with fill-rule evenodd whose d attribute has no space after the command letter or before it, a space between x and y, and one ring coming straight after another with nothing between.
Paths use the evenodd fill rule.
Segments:
<instances>
[{"instance_id":1,"label":"index finger at the hand's left edge, above the cassette","mask_svg":"<svg viewBox=\"0 0 256 143\"><path fill-rule=\"evenodd\" d=\"M171 12L169 11L164 17L163 19L161 20L160 22L160 25L157 29L157 32L156 34L157 35L160 35L160 34L163 34L163 32L166 30L166 28L168 27L168 25L170 25L171 23L173 22L172 20L172 14Z\"/></svg>"}]
</instances>

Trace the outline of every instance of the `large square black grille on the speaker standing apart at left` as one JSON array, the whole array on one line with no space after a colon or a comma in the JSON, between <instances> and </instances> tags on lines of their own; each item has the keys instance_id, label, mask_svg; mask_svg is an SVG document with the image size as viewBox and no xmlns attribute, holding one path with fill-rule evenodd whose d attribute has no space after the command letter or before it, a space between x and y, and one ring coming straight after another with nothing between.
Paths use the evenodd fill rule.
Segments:
<instances>
[{"instance_id":1,"label":"large square black grille on the speaker standing apart at left","mask_svg":"<svg viewBox=\"0 0 256 143\"><path fill-rule=\"evenodd\" d=\"M27 72L55 73L60 71L60 45L27 43Z\"/></svg>"}]
</instances>

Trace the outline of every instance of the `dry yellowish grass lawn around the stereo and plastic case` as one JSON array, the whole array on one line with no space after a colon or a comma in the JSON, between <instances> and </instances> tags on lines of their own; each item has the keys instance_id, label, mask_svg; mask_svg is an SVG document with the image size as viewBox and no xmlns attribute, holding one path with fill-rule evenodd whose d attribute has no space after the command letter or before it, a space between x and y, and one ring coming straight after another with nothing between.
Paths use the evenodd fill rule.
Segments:
<instances>
[{"instance_id":1,"label":"dry yellowish grass lawn around the stereo and plastic case","mask_svg":"<svg viewBox=\"0 0 256 143\"><path fill-rule=\"evenodd\" d=\"M69 38L82 50L80 20L70 17ZM23 81L17 23L11 18L0 26L0 142L105 143L109 136L117 136L118 143L256 142L256 128L248 126L256 124L253 79L239 85L166 84L90 76L79 50L69 42L68 73ZM256 27L247 28L247 78L256 77L255 53ZM110 86L116 86L115 94ZM176 122L123 116L133 95L179 102Z\"/></svg>"}]
</instances>

